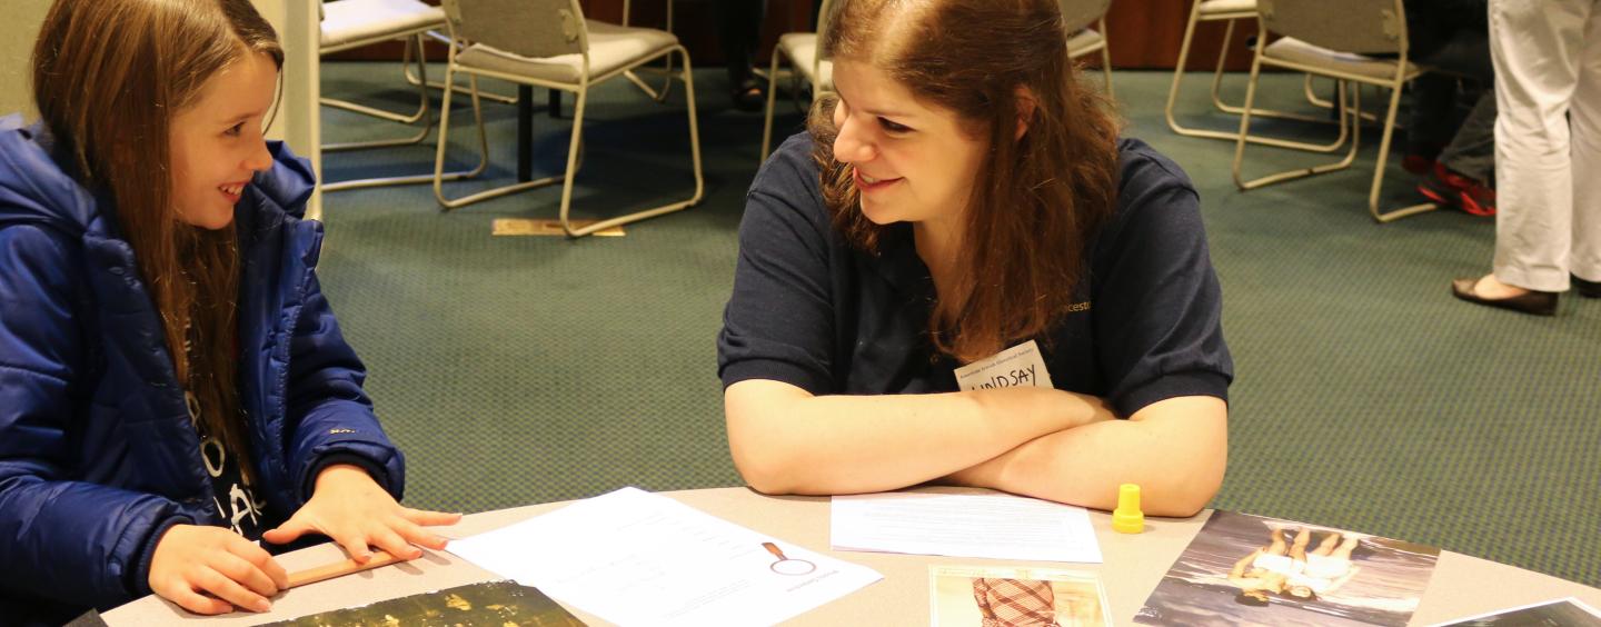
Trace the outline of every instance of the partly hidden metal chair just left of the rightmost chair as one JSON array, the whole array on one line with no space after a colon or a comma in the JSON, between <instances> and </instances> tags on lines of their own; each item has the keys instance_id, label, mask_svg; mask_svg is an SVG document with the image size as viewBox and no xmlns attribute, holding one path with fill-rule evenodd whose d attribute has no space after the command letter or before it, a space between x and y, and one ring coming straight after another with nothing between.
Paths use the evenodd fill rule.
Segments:
<instances>
[{"instance_id":1,"label":"partly hidden metal chair just left of the rightmost chair","mask_svg":"<svg viewBox=\"0 0 1601 627\"><path fill-rule=\"evenodd\" d=\"M1228 59L1228 43L1233 42L1233 37L1234 37L1234 22L1241 21L1241 19L1258 19L1258 16L1257 16L1257 0L1196 0L1194 3L1191 3L1191 6L1190 6L1190 21L1185 24L1185 38L1183 38L1183 43L1178 45L1178 66L1174 67L1174 82L1167 88L1167 106L1164 109L1164 115L1167 117L1167 128L1172 128L1174 133L1178 133L1178 134L1183 134L1183 136L1188 136L1188 138L1228 139L1228 141L1234 141L1236 139L1234 133L1230 133L1230 131L1214 131L1214 130L1190 128L1190 126L1180 125L1178 118L1174 115L1174 106L1178 102L1178 91L1180 91L1180 85L1183 83L1185 66L1190 61L1190 43L1194 38L1196 26L1201 24L1201 22L1217 22L1217 21L1222 21L1222 22L1226 22L1226 26L1225 26L1225 30L1223 30L1223 45L1218 48L1218 54L1217 54L1217 69L1212 72L1212 93L1210 93L1210 96L1212 96L1212 107L1217 109L1217 110L1220 110L1220 112L1231 114L1231 115L1241 115L1244 112L1244 107L1223 102L1223 98L1218 94L1218 91L1220 91L1220 88L1223 85L1223 64ZM1311 102L1311 104L1314 104L1314 106L1324 107L1324 109L1332 109L1337 102L1345 102L1346 101L1346 98L1345 98L1345 90L1346 88L1348 88L1348 85L1345 85L1342 82L1337 82L1335 83L1335 99L1334 101L1324 101L1324 99L1319 99L1316 93L1313 93L1311 75L1308 75L1306 82L1303 83L1303 90L1306 93L1306 101ZM1281 120L1302 120L1302 122L1329 123L1329 120L1322 118L1322 117L1295 114L1295 112L1284 112L1284 110L1271 110L1271 109L1255 109L1255 110L1252 110L1252 115L1271 117L1271 118L1281 118ZM1303 142L1303 141L1294 141L1294 139L1262 138L1262 136L1254 136L1254 138L1249 138L1247 141L1250 141L1254 144L1276 146L1276 147L1282 147L1282 149L1295 149L1295 150L1308 150L1308 152L1334 152L1334 150L1338 150L1342 146L1345 146L1345 141L1348 139L1348 134L1346 134L1348 133L1346 131L1348 125L1346 125L1346 120L1345 120L1345 110L1340 110L1340 115L1338 115L1337 122L1338 122L1338 128L1340 128L1340 136L1335 138L1335 141L1332 141L1329 144L1313 144L1313 142Z\"/></svg>"}]
</instances>

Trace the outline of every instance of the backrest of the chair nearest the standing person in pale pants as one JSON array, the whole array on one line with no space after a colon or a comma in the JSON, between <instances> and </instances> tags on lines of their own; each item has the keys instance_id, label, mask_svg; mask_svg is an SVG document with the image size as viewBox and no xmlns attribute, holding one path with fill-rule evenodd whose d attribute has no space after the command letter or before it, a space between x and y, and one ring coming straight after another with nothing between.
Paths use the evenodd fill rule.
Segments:
<instances>
[{"instance_id":1,"label":"backrest of the chair nearest the standing person in pale pants","mask_svg":"<svg viewBox=\"0 0 1601 627\"><path fill-rule=\"evenodd\" d=\"M1401 0L1257 0L1268 32L1359 54L1406 51Z\"/></svg>"}]
</instances>

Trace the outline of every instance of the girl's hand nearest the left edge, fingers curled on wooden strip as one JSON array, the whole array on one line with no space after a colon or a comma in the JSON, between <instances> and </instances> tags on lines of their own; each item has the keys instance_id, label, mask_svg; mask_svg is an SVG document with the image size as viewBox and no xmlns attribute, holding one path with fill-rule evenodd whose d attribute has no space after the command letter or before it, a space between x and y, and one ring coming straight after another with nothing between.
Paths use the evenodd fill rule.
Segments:
<instances>
[{"instance_id":1,"label":"girl's hand nearest the left edge, fingers curled on wooden strip","mask_svg":"<svg viewBox=\"0 0 1601 627\"><path fill-rule=\"evenodd\" d=\"M149 582L152 592L195 614L226 614L235 606L271 609L267 597L288 587L288 574L234 531L173 525L155 542Z\"/></svg>"}]
</instances>

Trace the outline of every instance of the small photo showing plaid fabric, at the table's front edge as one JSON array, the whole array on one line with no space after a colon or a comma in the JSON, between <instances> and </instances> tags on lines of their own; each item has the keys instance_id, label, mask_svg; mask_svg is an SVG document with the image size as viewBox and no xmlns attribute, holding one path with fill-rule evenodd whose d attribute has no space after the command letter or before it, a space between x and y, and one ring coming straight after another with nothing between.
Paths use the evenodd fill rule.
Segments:
<instances>
[{"instance_id":1,"label":"small photo showing plaid fabric, at the table's front edge","mask_svg":"<svg viewBox=\"0 0 1601 627\"><path fill-rule=\"evenodd\" d=\"M935 627L1109 625L1095 573L1055 568L930 566Z\"/></svg>"}]
</instances>

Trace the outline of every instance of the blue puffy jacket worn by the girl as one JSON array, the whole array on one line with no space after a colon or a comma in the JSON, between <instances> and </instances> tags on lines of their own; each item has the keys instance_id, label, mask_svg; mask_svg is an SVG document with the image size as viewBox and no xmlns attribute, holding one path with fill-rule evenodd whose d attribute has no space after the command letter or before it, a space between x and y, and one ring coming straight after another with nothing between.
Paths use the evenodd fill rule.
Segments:
<instances>
[{"instance_id":1,"label":"blue puffy jacket worn by the girl","mask_svg":"<svg viewBox=\"0 0 1601 627\"><path fill-rule=\"evenodd\" d=\"M165 331L104 198L58 166L38 125L0 118L0 624L149 593L155 539L223 525ZM317 283L314 174L271 142L235 208L240 406L263 528L357 462L395 499L403 459ZM70 617L70 616L66 616Z\"/></svg>"}]
</instances>

